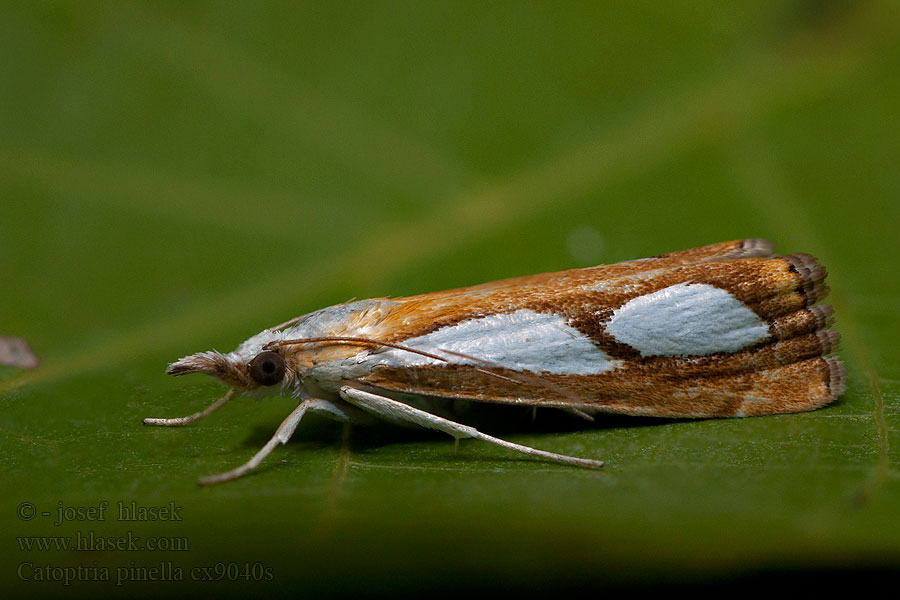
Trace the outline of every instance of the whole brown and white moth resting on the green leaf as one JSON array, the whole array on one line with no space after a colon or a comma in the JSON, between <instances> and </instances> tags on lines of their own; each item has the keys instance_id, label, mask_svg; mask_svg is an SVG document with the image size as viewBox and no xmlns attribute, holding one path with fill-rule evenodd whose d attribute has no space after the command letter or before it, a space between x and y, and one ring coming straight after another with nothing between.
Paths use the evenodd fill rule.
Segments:
<instances>
[{"instance_id":1,"label":"whole brown and white moth resting on the green leaf","mask_svg":"<svg viewBox=\"0 0 900 600\"><path fill-rule=\"evenodd\" d=\"M845 388L826 271L745 239L611 265L405 298L351 301L295 317L234 351L185 356L167 373L206 373L235 393L286 394L297 408L243 465L251 471L307 413L373 419L475 438L540 459L603 462L508 442L454 420L455 401L654 417L808 411Z\"/></svg>"}]
</instances>

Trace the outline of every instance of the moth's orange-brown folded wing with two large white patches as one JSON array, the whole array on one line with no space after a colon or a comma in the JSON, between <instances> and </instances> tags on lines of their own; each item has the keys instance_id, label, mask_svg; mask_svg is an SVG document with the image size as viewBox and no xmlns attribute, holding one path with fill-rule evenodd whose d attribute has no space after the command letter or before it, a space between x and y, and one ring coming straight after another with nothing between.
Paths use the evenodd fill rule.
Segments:
<instances>
[{"instance_id":1,"label":"moth's orange-brown folded wing with two large white patches","mask_svg":"<svg viewBox=\"0 0 900 600\"><path fill-rule=\"evenodd\" d=\"M360 383L695 417L809 410L839 396L843 366L824 357L838 340L829 329L831 308L816 305L827 294L825 269L808 255L721 254L654 269L524 278L463 291L468 302L459 295L400 299L394 317L405 320L389 341L432 354L449 350L446 361L374 352Z\"/></svg>"}]
</instances>

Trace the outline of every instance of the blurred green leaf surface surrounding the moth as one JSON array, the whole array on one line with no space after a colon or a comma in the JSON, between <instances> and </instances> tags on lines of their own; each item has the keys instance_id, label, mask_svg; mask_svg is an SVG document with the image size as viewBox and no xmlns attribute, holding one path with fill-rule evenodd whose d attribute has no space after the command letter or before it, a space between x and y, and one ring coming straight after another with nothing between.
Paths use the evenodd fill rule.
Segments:
<instances>
[{"instance_id":1,"label":"blurred green leaf surface surrounding the moth","mask_svg":"<svg viewBox=\"0 0 900 600\"><path fill-rule=\"evenodd\" d=\"M896 2L3 2L0 55L0 335L43 361L0 367L4 589L541 593L900 566ZM140 424L221 393L169 361L351 297L740 237L829 268L837 404L485 427L599 473L310 419L213 488L196 478L246 460L291 400ZM54 525L104 500L183 521ZM78 532L189 550L20 539ZM35 581L79 565L112 581ZM185 580L116 585L153 567Z\"/></svg>"}]
</instances>

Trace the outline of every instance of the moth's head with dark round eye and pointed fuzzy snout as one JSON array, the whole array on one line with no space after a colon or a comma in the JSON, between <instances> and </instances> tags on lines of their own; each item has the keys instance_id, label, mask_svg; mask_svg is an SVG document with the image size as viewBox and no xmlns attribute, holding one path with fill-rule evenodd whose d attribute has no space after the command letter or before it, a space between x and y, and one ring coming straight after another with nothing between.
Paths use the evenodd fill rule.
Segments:
<instances>
[{"instance_id":1,"label":"moth's head with dark round eye and pointed fuzzy snout","mask_svg":"<svg viewBox=\"0 0 900 600\"><path fill-rule=\"evenodd\" d=\"M228 354L212 350L185 356L171 363L166 373L169 375L206 373L244 391L287 383L293 375L293 370L285 361L282 349L265 348L266 344L277 338L277 335L275 332L264 331Z\"/></svg>"}]
</instances>

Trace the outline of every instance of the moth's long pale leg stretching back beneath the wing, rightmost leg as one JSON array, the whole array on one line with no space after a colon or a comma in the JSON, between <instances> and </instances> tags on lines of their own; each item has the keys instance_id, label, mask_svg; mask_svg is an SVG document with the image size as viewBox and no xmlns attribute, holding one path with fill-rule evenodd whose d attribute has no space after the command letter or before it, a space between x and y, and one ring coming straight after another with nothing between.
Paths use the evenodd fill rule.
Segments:
<instances>
[{"instance_id":1,"label":"moth's long pale leg stretching back beneath the wing, rightmost leg","mask_svg":"<svg viewBox=\"0 0 900 600\"><path fill-rule=\"evenodd\" d=\"M419 425L420 427L443 431L444 433L452 435L457 440L460 438L475 438L477 440L488 442L489 444L500 446L501 448L507 448L509 450L521 452L522 454L528 454L529 456L536 456L551 462L558 462L566 465L595 468L603 466L603 461L590 458L578 458L576 456L566 456L565 454L555 454L553 452L531 448L530 446L522 446L520 444L507 442L506 440L501 440L500 438L481 433L474 427L456 423L391 398L385 398L384 396L358 390L350 386L343 386L340 389L340 395L341 398L347 402L374 415L388 420L403 421Z\"/></svg>"}]
</instances>

